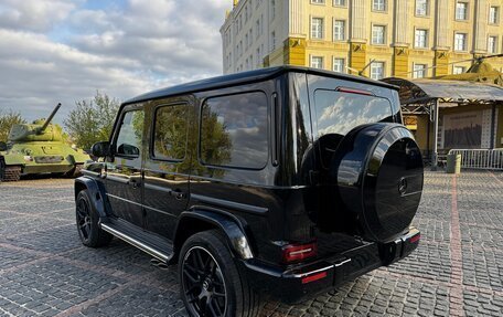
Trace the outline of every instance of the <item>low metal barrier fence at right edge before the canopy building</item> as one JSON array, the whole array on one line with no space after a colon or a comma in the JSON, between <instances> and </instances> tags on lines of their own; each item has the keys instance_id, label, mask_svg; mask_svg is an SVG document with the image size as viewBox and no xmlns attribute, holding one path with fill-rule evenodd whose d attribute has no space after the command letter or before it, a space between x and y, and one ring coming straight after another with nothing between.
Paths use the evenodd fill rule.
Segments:
<instances>
[{"instance_id":1,"label":"low metal barrier fence at right edge before the canopy building","mask_svg":"<svg viewBox=\"0 0 503 317\"><path fill-rule=\"evenodd\" d=\"M461 168L503 170L503 148L451 149L449 154L461 155Z\"/></svg>"}]
</instances>

